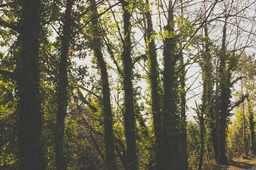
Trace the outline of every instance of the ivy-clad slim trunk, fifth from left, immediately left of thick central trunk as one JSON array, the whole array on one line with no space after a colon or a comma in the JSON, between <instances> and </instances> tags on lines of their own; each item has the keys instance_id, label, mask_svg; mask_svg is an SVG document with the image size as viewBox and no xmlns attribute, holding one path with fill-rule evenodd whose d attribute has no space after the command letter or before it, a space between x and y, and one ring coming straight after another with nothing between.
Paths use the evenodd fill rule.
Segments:
<instances>
[{"instance_id":1,"label":"ivy-clad slim trunk, fifth from left, immediately left of thick central trunk","mask_svg":"<svg viewBox=\"0 0 256 170\"><path fill-rule=\"evenodd\" d=\"M148 5L148 0L145 1ZM160 105L159 105L159 73L158 73L158 61L156 55L156 46L153 34L152 18L149 11L146 12L146 44L148 50L148 59L150 62L150 87L151 87L151 104L153 113L153 124L155 133L155 169L162 169L161 163L161 116L160 116Z\"/></svg>"}]
</instances>

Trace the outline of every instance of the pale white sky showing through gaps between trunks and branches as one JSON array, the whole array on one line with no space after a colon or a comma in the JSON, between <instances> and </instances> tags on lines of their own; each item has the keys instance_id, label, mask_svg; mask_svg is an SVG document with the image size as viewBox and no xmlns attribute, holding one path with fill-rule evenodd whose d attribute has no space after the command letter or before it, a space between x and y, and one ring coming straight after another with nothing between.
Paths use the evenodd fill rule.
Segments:
<instances>
[{"instance_id":1,"label":"pale white sky showing through gaps between trunks and branches","mask_svg":"<svg viewBox=\"0 0 256 170\"><path fill-rule=\"evenodd\" d=\"M112 2L112 1L110 1ZM150 1L151 3L154 3L155 1ZM163 1L163 6L164 2L168 3L167 1ZM187 1L188 3L186 3L186 1L184 1L184 11L185 11L185 17L188 17L189 20L191 21L191 23L195 24L195 27L198 27L200 25L200 22L202 20L202 16L199 17L199 15L204 11L203 9L203 3L201 3L201 1L195 0L195 1ZM212 7L214 1L208 1L206 7L210 9L210 7ZM236 1L237 4L233 4L232 7L236 7L239 6L238 8L243 8L244 6L248 5L248 4L253 4L254 1ZM114 1L113 1L114 3ZM173 2L175 4L174 7L174 15L179 16L180 15L180 1L174 1ZM221 15L221 12L224 9L224 4L225 5L230 5L230 3L232 3L232 1L230 0L225 0L224 2L220 2L217 3L216 7L214 7L214 10L212 11L213 15L210 15L209 20L212 18L215 18L216 16L223 16L223 14ZM191 5L191 6L190 6ZM250 9L246 10L246 12L240 12L239 15L241 16L246 16L249 19L243 19L242 17L238 18L229 18L228 19L228 40L227 40L227 44L228 44L228 49L232 50L233 46L235 43L236 47L239 48L240 46L243 46L243 44L246 44L247 41L251 41L251 45L255 45L255 41L253 41L254 35L249 35L249 31L255 31L254 25L254 18L255 18L255 4L250 5ZM114 11L120 11L120 7L116 6L113 8ZM151 8L152 10L152 21L154 24L154 30L156 33L160 32L160 27L159 27L159 18L158 18L158 10L156 8L155 5L152 6ZM164 11L166 11L166 8L160 9L160 13L162 16L162 28L164 27L164 25L166 24L166 20L164 19ZM208 10L209 13L210 10ZM232 8L232 11L235 11ZM238 10L236 10L238 11ZM207 13L207 14L208 14ZM140 17L139 14L133 14L134 18L137 18L137 16ZM122 14L120 13L119 15L116 16L117 20L119 22L121 22L122 20ZM221 44L221 37L222 37L222 27L223 27L223 22L224 19L220 18L217 20L214 20L213 22L209 23L210 27L209 27L209 36L210 39L213 40L213 42L217 45ZM112 20L112 22L114 22ZM234 23L236 22L240 22L240 30L236 29L237 27L235 26ZM136 54L143 54L144 53L144 39L143 39L143 32L141 31L141 29L139 29L138 27L133 27L132 31L134 32L134 38L135 40L138 42L138 44L134 47L133 51L136 51ZM246 32L247 31L247 32ZM256 32L256 31L255 31ZM199 30L199 32L197 34L200 34L201 30ZM240 38L238 39L237 42L235 42L235 37L238 35L237 33L239 33ZM189 37L188 37L189 39ZM156 45L157 47L160 47L162 45L162 40L160 39L156 39ZM185 42L184 42L185 44ZM251 48L246 48L245 52L247 53L254 53L255 52L255 48L251 47ZM159 62L159 66L160 68L163 69L162 66L162 50L157 50L158 53L158 62ZM192 53L187 53L184 52L184 58L189 59L191 58L191 54L196 54L197 50L195 49L195 52ZM105 54L105 59L108 62L108 64L112 67L115 68L114 63L112 62L112 59L110 59L110 57L108 56L108 53L104 53ZM134 55L135 57L136 54ZM93 69L91 68L92 63L91 63L91 59L92 57L90 55L87 55L85 59L79 59L79 58L73 58L72 60L75 61L77 63L77 65L86 65L88 66L88 72L92 72ZM141 62L141 64L143 65L143 62ZM146 72L143 70L143 68L141 67L141 65L139 65L138 63L135 65L135 68L137 70L139 70L141 75L145 75ZM192 108L195 108L195 101L197 102L197 104L201 103L201 92L202 92L202 84L201 84L201 69L200 66L197 63L192 63L186 66L186 70L187 70L187 81L186 81L186 87L190 87L189 91L187 92L187 117L189 120L191 120L193 118L193 116L195 116L195 111ZM112 80L114 80L114 82L117 81L117 74L115 73L115 71L110 71L109 74L111 74L111 78ZM147 87L148 84L147 82L142 79L141 81L139 81L137 84L134 84L135 86L140 86L142 87L142 94L144 94L144 92L147 91ZM235 84L234 89L237 90L239 89L240 86L238 86L238 84ZM86 94L86 92L84 91L84 94ZM114 96L116 95L116 92L112 92L112 100L114 101ZM235 98L233 97L232 100L234 101ZM144 99L141 99L140 101L138 101L139 103L144 103ZM114 102L113 102L114 103ZM146 104L145 104L146 105ZM117 107L117 105L113 104L113 107ZM148 107L148 105L147 105Z\"/></svg>"}]
</instances>

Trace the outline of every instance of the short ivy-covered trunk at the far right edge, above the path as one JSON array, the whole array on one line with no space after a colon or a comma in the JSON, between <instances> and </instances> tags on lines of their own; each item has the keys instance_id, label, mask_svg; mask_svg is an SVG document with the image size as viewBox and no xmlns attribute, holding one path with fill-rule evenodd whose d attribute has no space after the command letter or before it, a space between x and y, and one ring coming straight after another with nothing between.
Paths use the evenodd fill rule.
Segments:
<instances>
[{"instance_id":1,"label":"short ivy-covered trunk at the far right edge, above the path","mask_svg":"<svg viewBox=\"0 0 256 170\"><path fill-rule=\"evenodd\" d=\"M255 132L254 132L254 114L253 114L253 107L251 106L251 101L248 97L247 99L248 104L248 112L250 114L249 123L250 123L250 134L251 134L251 154L256 154L255 152Z\"/></svg>"}]
</instances>

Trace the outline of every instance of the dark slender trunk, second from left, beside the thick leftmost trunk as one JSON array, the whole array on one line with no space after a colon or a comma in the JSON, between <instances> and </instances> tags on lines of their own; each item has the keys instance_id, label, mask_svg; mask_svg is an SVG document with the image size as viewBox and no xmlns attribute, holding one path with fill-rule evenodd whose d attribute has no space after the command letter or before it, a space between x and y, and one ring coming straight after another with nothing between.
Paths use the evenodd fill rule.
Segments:
<instances>
[{"instance_id":1,"label":"dark slender trunk, second from left, beside the thick leftmost trunk","mask_svg":"<svg viewBox=\"0 0 256 170\"><path fill-rule=\"evenodd\" d=\"M55 133L55 156L56 168L67 169L67 162L64 156L64 121L67 115L68 105L68 52L72 35L72 3L73 0L67 0L66 10L63 22L63 37L61 37L61 52L59 63L59 82L57 84L57 117Z\"/></svg>"}]
</instances>

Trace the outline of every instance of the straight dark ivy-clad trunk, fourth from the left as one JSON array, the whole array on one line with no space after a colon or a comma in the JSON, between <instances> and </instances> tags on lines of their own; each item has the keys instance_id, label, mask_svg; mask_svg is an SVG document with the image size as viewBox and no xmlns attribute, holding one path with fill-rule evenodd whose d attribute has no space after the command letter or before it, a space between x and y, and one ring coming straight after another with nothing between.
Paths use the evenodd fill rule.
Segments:
<instances>
[{"instance_id":1,"label":"straight dark ivy-clad trunk, fourth from the left","mask_svg":"<svg viewBox=\"0 0 256 170\"><path fill-rule=\"evenodd\" d=\"M122 1L123 7L123 90L125 91L125 137L127 145L127 166L126 169L136 170L138 169L138 160L136 153L136 141L135 141L135 112L133 103L133 62L131 59L131 33L130 33L130 18L131 13L127 10L128 2Z\"/></svg>"}]
</instances>

